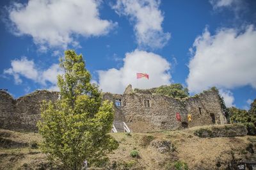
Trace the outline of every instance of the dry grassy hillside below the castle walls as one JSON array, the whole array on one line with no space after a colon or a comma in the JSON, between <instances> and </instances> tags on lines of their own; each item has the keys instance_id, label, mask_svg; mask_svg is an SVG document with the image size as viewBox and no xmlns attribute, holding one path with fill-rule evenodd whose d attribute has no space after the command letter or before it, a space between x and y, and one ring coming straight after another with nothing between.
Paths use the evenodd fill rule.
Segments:
<instances>
[{"instance_id":1,"label":"dry grassy hillside below the castle walls","mask_svg":"<svg viewBox=\"0 0 256 170\"><path fill-rule=\"evenodd\" d=\"M109 162L100 162L99 166L101 169L227 169L228 166L232 169L241 160L256 160L255 136L202 138L194 135L198 130L202 127L111 134L120 146L109 155ZM35 133L0 130L0 169L60 169L52 166L38 149L41 140Z\"/></svg>"}]
</instances>

